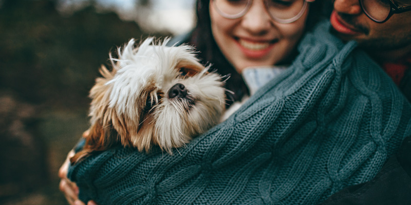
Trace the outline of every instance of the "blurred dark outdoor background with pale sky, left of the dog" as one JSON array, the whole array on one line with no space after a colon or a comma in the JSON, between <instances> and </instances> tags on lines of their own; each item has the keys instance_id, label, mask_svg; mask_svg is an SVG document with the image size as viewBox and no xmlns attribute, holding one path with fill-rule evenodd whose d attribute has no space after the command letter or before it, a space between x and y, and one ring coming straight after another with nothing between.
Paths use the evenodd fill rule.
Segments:
<instances>
[{"instance_id":1,"label":"blurred dark outdoor background with pale sky, left of the dog","mask_svg":"<svg viewBox=\"0 0 411 205\"><path fill-rule=\"evenodd\" d=\"M0 0L0 204L67 204L58 170L88 91L130 38L195 24L195 0Z\"/></svg>"}]
</instances>

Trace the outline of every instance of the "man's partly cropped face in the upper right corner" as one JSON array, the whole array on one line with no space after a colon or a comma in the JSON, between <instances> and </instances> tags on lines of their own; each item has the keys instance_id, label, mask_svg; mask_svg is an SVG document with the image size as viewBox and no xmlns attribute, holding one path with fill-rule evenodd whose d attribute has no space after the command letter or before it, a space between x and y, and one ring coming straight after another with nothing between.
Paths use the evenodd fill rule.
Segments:
<instances>
[{"instance_id":1,"label":"man's partly cropped face in the upper right corner","mask_svg":"<svg viewBox=\"0 0 411 205\"><path fill-rule=\"evenodd\" d=\"M411 5L410 0L397 0L396 3L401 6ZM359 0L335 0L330 22L339 37L356 40L366 50L411 51L411 11L394 14L380 24L365 15Z\"/></svg>"}]
</instances>

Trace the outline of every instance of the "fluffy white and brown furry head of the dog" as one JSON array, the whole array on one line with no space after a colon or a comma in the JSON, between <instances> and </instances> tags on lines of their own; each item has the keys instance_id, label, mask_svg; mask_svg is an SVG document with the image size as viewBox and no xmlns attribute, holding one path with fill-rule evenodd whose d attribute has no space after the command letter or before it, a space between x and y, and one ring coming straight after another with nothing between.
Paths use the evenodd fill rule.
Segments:
<instances>
[{"instance_id":1,"label":"fluffy white and brown furry head of the dog","mask_svg":"<svg viewBox=\"0 0 411 205\"><path fill-rule=\"evenodd\" d=\"M198 63L192 47L166 47L168 40L147 38L136 48L132 39L118 49L118 58L110 55L113 69L102 66L103 77L90 91L91 127L72 163L116 144L146 152L157 145L172 154L219 122L225 108L221 76ZM176 84L184 96L170 96Z\"/></svg>"}]
</instances>

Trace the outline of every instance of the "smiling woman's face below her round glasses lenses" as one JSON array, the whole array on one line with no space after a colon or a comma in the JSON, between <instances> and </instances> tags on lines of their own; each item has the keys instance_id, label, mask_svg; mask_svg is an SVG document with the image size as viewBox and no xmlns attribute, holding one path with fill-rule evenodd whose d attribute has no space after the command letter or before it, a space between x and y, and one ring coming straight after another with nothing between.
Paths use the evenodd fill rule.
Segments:
<instances>
[{"instance_id":1,"label":"smiling woman's face below her round glasses lenses","mask_svg":"<svg viewBox=\"0 0 411 205\"><path fill-rule=\"evenodd\" d=\"M280 24L271 19L263 0L254 0L244 16L228 19L210 1L211 30L221 52L241 73L287 58L304 33L307 11L293 23Z\"/></svg>"}]
</instances>

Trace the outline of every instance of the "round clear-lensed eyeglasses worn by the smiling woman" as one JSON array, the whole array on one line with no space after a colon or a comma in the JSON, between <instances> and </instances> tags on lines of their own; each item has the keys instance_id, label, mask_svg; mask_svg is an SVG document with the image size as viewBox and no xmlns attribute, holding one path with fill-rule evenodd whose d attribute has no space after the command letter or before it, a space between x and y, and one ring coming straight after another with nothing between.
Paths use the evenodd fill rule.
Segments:
<instances>
[{"instance_id":1,"label":"round clear-lensed eyeglasses worn by the smiling woman","mask_svg":"<svg viewBox=\"0 0 411 205\"><path fill-rule=\"evenodd\" d=\"M211 0L215 10L229 19L244 16L253 0ZM271 18L278 23L289 24L300 18L307 9L305 0L264 0L264 5Z\"/></svg>"}]
</instances>

